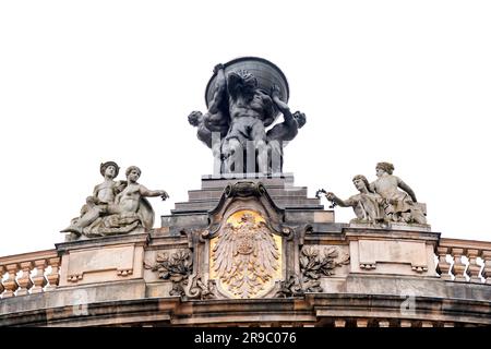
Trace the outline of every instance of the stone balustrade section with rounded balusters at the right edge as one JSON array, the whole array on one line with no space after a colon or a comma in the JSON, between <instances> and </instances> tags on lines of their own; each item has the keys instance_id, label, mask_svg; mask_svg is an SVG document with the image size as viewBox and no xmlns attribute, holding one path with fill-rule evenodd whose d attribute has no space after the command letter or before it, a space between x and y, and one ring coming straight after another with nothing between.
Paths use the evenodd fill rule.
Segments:
<instances>
[{"instance_id":1,"label":"stone balustrade section with rounded balusters at the right edge","mask_svg":"<svg viewBox=\"0 0 491 349\"><path fill-rule=\"evenodd\" d=\"M438 272L442 279L491 284L491 242L440 239L435 253L439 258ZM467 262L463 257L466 257ZM478 263L478 258L482 264Z\"/></svg>"}]
</instances>

